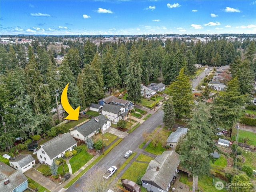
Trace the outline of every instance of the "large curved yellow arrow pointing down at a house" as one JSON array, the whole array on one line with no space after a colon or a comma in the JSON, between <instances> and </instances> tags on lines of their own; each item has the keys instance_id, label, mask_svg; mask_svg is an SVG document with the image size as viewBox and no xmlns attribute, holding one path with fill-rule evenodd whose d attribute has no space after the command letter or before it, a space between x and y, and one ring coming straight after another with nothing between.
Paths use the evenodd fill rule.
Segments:
<instances>
[{"instance_id":1,"label":"large curved yellow arrow pointing down at a house","mask_svg":"<svg viewBox=\"0 0 256 192\"><path fill-rule=\"evenodd\" d=\"M69 82L68 82L68 84L69 84ZM61 101L61 104L62 104L62 107L64 108L64 110L69 114L68 116L65 117L65 119L77 121L78 116L79 116L80 106L78 106L78 108L76 108L76 109L73 109L72 106L69 104L69 102L68 102L68 84L62 91L60 101Z\"/></svg>"}]
</instances>

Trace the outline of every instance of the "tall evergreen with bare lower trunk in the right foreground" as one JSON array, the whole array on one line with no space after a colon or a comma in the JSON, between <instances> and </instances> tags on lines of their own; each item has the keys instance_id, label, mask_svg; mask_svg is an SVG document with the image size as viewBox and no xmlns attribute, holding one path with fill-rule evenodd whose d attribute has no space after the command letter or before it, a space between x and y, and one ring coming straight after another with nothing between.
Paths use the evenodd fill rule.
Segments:
<instances>
[{"instance_id":1,"label":"tall evergreen with bare lower trunk in the right foreground","mask_svg":"<svg viewBox=\"0 0 256 192\"><path fill-rule=\"evenodd\" d=\"M193 176L193 192L198 190L198 176L208 174L211 168L210 153L215 149L211 118L210 106L198 103L191 120L188 121L189 130L179 149L180 165Z\"/></svg>"}]
</instances>

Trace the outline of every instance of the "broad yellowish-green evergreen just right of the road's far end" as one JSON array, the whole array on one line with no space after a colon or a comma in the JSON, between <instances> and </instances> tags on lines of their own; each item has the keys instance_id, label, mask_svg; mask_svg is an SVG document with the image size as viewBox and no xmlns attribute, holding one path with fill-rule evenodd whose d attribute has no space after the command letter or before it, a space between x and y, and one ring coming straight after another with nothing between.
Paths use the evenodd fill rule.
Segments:
<instances>
[{"instance_id":1,"label":"broad yellowish-green evergreen just right of the road's far end","mask_svg":"<svg viewBox=\"0 0 256 192\"><path fill-rule=\"evenodd\" d=\"M193 106L193 94L189 78L184 74L184 68L180 70L176 80L170 84L167 90L172 97L176 117L188 116Z\"/></svg>"}]
</instances>

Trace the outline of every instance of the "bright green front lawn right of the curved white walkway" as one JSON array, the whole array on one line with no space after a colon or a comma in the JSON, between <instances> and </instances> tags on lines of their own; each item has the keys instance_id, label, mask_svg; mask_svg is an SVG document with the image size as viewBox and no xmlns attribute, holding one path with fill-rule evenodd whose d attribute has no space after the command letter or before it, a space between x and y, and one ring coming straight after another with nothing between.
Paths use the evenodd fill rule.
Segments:
<instances>
[{"instance_id":1,"label":"bright green front lawn right of the curved white walkway","mask_svg":"<svg viewBox=\"0 0 256 192\"><path fill-rule=\"evenodd\" d=\"M69 162L72 168L72 173L77 172L84 164L86 164L90 159L93 158L93 155L89 154L86 149L86 145L80 145L83 149L78 154L70 158Z\"/></svg>"}]
</instances>

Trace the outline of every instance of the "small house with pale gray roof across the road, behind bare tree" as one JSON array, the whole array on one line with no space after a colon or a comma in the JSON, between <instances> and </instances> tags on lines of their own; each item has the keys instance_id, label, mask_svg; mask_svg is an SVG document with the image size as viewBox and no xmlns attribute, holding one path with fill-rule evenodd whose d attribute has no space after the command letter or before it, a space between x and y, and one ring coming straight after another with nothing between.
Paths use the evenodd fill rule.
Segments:
<instances>
[{"instance_id":1,"label":"small house with pale gray roof across the road, behind bare tree","mask_svg":"<svg viewBox=\"0 0 256 192\"><path fill-rule=\"evenodd\" d=\"M166 140L166 146L169 146L170 148L172 148L173 150L175 150L177 144L178 144L178 140L185 136L188 132L188 128L178 128L176 129L175 132L172 132L167 140Z\"/></svg>"}]
</instances>

